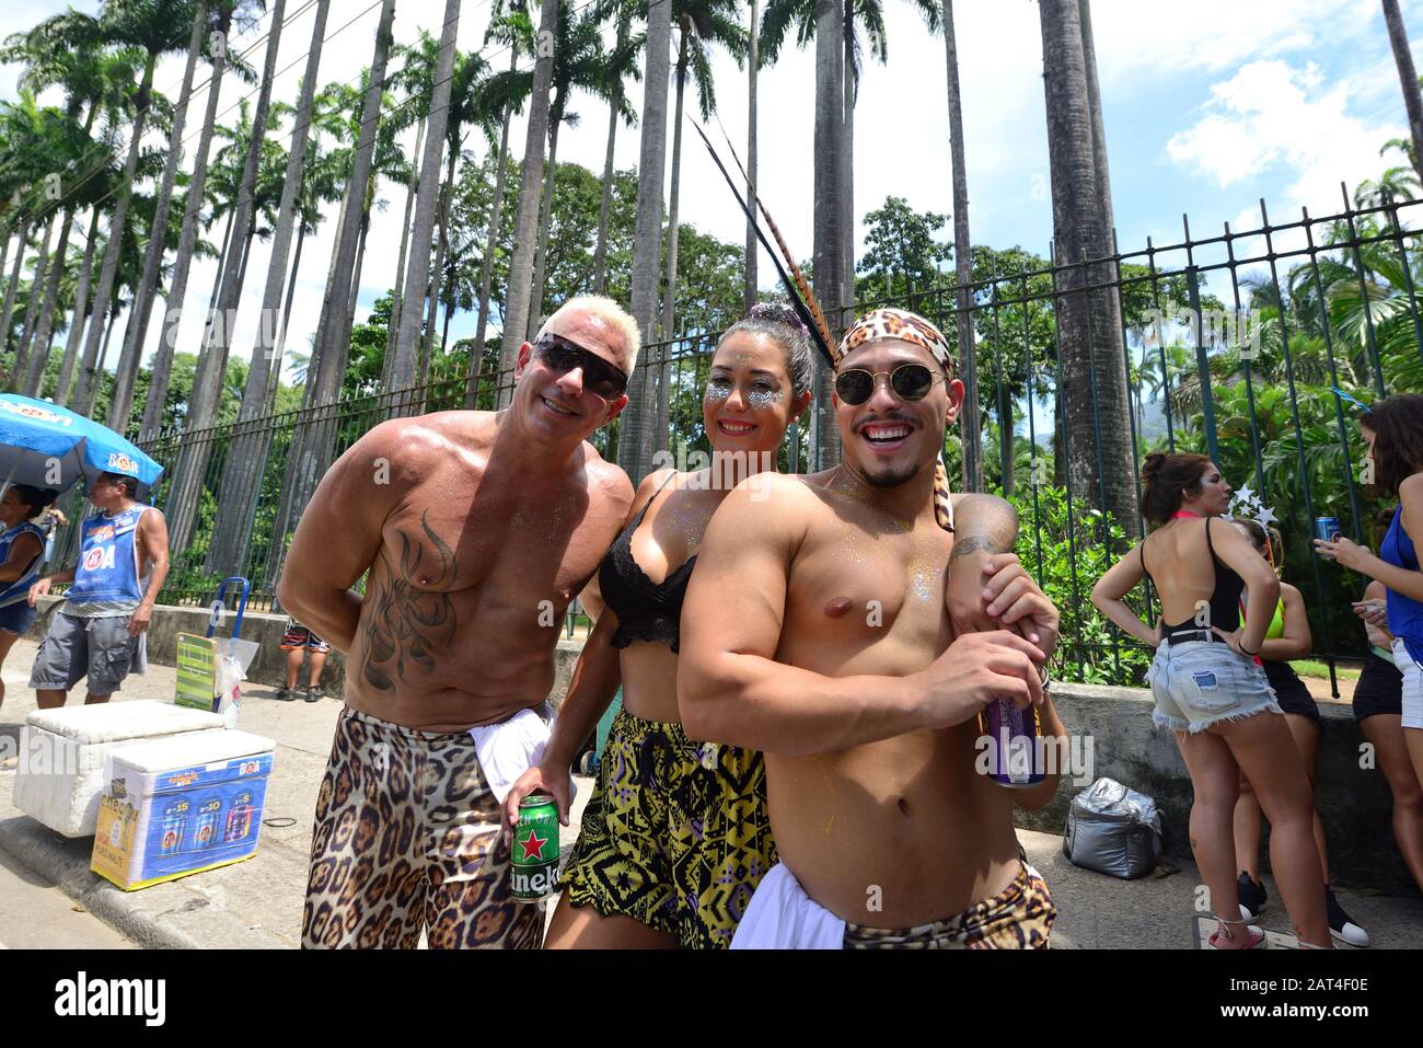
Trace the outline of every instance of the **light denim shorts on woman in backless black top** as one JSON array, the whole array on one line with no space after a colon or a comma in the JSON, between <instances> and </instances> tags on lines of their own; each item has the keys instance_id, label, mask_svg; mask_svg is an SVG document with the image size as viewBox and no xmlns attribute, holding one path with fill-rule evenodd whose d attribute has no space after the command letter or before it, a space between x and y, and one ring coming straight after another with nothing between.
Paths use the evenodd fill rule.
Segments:
<instances>
[{"instance_id":1,"label":"light denim shorts on woman in backless black top","mask_svg":"<svg viewBox=\"0 0 1423 1048\"><path fill-rule=\"evenodd\" d=\"M1151 719L1173 732L1204 732L1217 720L1281 713L1265 671L1214 641L1163 644L1147 669L1157 708Z\"/></svg>"}]
</instances>

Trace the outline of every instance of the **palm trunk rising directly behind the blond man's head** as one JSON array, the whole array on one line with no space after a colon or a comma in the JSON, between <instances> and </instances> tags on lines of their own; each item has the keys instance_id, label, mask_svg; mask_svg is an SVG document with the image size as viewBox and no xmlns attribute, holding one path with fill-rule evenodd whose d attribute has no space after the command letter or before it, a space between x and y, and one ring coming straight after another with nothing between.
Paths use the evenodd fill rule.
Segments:
<instances>
[{"instance_id":1,"label":"palm trunk rising directly behind the blond man's head","mask_svg":"<svg viewBox=\"0 0 1423 1048\"><path fill-rule=\"evenodd\" d=\"M667 4L662 4L667 7ZM558 28L558 0L542 0L539 36L554 40ZM649 51L649 54L652 54ZM504 296L504 332L499 337L499 370L512 372L528 335L529 298L534 290L534 249L539 219L539 178L544 177L544 142L548 137L548 95L554 83L554 56L541 50L534 63L534 90L529 95L528 137L524 145L524 172L519 179L519 212L514 222L514 258ZM659 211L662 192L657 192ZM660 218L660 215L659 215ZM498 406L509 402L512 390L499 390Z\"/></svg>"}]
</instances>

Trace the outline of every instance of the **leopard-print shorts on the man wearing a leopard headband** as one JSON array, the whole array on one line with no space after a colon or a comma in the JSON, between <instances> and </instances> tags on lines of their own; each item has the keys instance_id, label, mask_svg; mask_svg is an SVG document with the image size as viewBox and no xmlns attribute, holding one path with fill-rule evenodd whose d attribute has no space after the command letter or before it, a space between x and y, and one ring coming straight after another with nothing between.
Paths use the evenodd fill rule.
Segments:
<instances>
[{"instance_id":1,"label":"leopard-print shorts on the man wearing a leopard headband","mask_svg":"<svg viewBox=\"0 0 1423 1048\"><path fill-rule=\"evenodd\" d=\"M912 928L845 923L845 950L1046 950L1057 920L1047 881L1027 863L992 898Z\"/></svg>"}]
</instances>

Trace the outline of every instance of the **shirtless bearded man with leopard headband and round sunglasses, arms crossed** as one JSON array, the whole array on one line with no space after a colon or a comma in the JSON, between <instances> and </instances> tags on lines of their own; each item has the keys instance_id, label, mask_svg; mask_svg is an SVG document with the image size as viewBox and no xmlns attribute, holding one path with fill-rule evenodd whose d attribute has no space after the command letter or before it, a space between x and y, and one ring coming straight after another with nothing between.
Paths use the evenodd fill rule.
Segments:
<instances>
[{"instance_id":1,"label":"shirtless bearded man with leopard headband and round sunglasses, arms crossed","mask_svg":"<svg viewBox=\"0 0 1423 1048\"><path fill-rule=\"evenodd\" d=\"M932 504L963 399L951 367L921 318L862 318L837 369L841 464L766 477L757 500L743 486L703 541L679 705L692 738L766 752L781 857L734 947L1046 945L1056 914L1012 806L1046 803L1056 780L1007 790L975 758L976 715L998 699L1040 703L1044 733L1063 735L1040 676L1056 612L1023 594L1037 644L955 638L945 582L959 550ZM858 370L868 387L847 379Z\"/></svg>"}]
</instances>

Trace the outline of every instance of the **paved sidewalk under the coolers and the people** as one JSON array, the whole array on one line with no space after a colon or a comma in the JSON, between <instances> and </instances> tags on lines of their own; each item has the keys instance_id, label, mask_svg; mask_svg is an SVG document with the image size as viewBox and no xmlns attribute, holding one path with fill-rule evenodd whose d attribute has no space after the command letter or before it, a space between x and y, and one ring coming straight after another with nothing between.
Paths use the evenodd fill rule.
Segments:
<instances>
[{"instance_id":1,"label":"paved sidewalk under the coolers and the people","mask_svg":"<svg viewBox=\"0 0 1423 1048\"><path fill-rule=\"evenodd\" d=\"M27 688L36 644L18 641L6 659L7 698L0 706L0 738L17 740L20 725L34 709ZM152 666L145 676L129 678L115 701L171 699L174 671ZM209 870L142 891L120 891L88 869L92 839L67 840L21 814L10 802L14 772L0 772L0 852L58 884L129 938L154 947L296 947L302 926L302 900L316 793L330 750L337 699L316 703L276 702L269 688L246 693L240 726L277 742L272 780L263 812L258 854L235 866ZM74 695L71 703L81 701ZM565 850L576 836L578 820L592 782L578 779L573 827L564 832ZM1022 830L1033 866L1052 887L1060 918L1053 945L1063 948L1195 948L1198 944L1195 867L1165 877L1120 881L1080 870L1063 857L1057 834ZM1380 842L1392 847L1392 842ZM1261 921L1275 933L1288 933L1278 893L1266 879L1271 906ZM1423 900L1366 896L1339 890L1345 908L1366 927L1376 947L1423 948ZM28 940L14 926L6 940Z\"/></svg>"}]
</instances>

